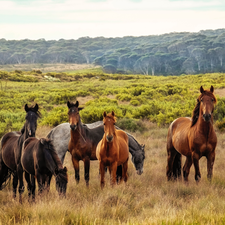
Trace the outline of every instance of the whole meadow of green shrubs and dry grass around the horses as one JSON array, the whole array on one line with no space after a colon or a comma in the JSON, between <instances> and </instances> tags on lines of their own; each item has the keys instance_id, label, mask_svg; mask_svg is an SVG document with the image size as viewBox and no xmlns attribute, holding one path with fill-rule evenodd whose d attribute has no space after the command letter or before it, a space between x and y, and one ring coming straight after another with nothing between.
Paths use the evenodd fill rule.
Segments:
<instances>
[{"instance_id":1,"label":"whole meadow of green shrubs and dry grass around the horses","mask_svg":"<svg viewBox=\"0 0 225 225\"><path fill-rule=\"evenodd\" d=\"M19 130L24 123L23 106L38 103L42 118L37 137L45 137L52 127L66 122L67 100L79 100L84 109L82 121L94 122L103 111L114 110L118 125L145 144L144 173L137 175L129 161L128 182L112 188L109 175L100 188L98 162L91 162L90 187L86 188L83 163L80 183L74 178L70 154L65 166L69 182L66 198L55 190L54 178L48 194L23 204L12 198L12 180L0 191L0 224L224 224L225 223L225 76L199 74L170 77L19 72L21 81L13 81L18 72L2 72L0 101L0 137ZM45 76L58 80L46 80ZM30 78L35 80L29 81ZM71 79L69 81L68 79ZM191 167L189 183L167 182L166 136L169 123L179 116L191 116L203 85L215 88L218 104L214 113L218 137L212 182L207 180L206 158L200 160L201 181L194 180ZM184 161L184 158L183 158ZM25 183L26 184L26 183Z\"/></svg>"}]
</instances>

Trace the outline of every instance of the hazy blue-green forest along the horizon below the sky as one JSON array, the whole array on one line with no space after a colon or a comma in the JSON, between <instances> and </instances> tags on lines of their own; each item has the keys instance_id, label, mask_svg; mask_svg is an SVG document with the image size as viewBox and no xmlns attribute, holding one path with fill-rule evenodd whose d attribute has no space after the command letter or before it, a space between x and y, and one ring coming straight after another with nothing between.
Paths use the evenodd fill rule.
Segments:
<instances>
[{"instance_id":1,"label":"hazy blue-green forest along the horizon below the sky","mask_svg":"<svg viewBox=\"0 0 225 225\"><path fill-rule=\"evenodd\" d=\"M182 75L225 72L225 29L77 40L0 39L0 65L94 64L106 73Z\"/></svg>"}]
</instances>

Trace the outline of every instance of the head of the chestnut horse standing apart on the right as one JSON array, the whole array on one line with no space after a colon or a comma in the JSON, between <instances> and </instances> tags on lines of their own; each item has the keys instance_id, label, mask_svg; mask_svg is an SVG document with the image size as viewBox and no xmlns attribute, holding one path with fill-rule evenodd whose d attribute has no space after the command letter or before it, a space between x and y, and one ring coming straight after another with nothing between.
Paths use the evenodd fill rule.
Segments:
<instances>
[{"instance_id":1,"label":"head of the chestnut horse standing apart on the right","mask_svg":"<svg viewBox=\"0 0 225 225\"><path fill-rule=\"evenodd\" d=\"M204 90L201 86L201 95L198 98L200 102L201 114L204 121L209 122L211 120L212 113L214 111L214 105L216 104L216 97L214 96L214 88L211 86L210 90Z\"/></svg>"}]
</instances>

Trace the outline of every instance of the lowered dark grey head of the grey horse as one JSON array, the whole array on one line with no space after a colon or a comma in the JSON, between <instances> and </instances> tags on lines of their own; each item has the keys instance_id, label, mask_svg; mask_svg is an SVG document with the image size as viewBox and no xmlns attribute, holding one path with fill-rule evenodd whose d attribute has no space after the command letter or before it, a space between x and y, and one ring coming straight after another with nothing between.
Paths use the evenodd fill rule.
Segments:
<instances>
[{"instance_id":1,"label":"lowered dark grey head of the grey horse","mask_svg":"<svg viewBox=\"0 0 225 225\"><path fill-rule=\"evenodd\" d=\"M145 159L144 148L145 148L145 145L141 145L141 148L138 151L132 150L132 148L129 149L132 155L131 161L133 162L138 175L141 175L143 173L144 159Z\"/></svg>"}]
</instances>

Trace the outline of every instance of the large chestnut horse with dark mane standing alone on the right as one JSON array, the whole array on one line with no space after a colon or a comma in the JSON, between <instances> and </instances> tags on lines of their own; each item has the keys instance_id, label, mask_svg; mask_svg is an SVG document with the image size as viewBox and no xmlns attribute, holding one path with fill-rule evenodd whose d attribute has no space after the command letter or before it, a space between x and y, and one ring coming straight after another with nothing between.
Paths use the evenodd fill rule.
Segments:
<instances>
[{"instance_id":1,"label":"large chestnut horse with dark mane standing alone on the right","mask_svg":"<svg viewBox=\"0 0 225 225\"><path fill-rule=\"evenodd\" d=\"M192 163L195 167L195 180L197 182L200 180L199 159L202 156L207 158L207 177L209 180L212 179L217 144L213 129L213 110L216 104L213 91L213 86L210 90L204 90L201 86L201 94L197 99L192 118L180 117L171 123L167 135L168 180L180 178L181 155L186 156L183 167L185 181L188 181Z\"/></svg>"}]
</instances>

